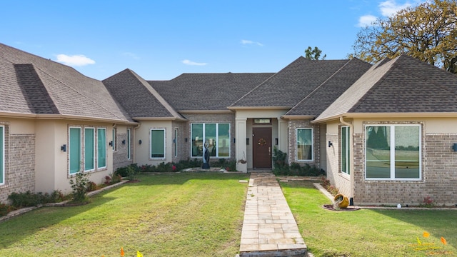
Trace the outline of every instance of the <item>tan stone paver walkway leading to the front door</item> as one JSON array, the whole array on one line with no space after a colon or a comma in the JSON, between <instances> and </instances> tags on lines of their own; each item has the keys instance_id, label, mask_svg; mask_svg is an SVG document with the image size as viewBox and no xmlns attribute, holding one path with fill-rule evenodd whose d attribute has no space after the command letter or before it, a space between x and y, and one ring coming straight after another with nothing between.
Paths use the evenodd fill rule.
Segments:
<instances>
[{"instance_id":1,"label":"tan stone paver walkway leading to the front door","mask_svg":"<svg viewBox=\"0 0 457 257\"><path fill-rule=\"evenodd\" d=\"M273 173L251 173L240 257L306 256L306 244Z\"/></svg>"}]
</instances>

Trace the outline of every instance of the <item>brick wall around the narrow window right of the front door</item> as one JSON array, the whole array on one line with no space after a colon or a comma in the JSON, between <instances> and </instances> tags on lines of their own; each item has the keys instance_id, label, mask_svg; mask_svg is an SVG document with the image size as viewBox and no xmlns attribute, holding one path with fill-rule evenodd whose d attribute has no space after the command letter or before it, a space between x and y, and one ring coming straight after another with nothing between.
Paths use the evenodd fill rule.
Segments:
<instances>
[{"instance_id":1,"label":"brick wall around the narrow window right of the front door","mask_svg":"<svg viewBox=\"0 0 457 257\"><path fill-rule=\"evenodd\" d=\"M313 161L298 161L296 158L296 142L297 135L296 129L313 129ZM309 121L303 120L291 120L288 121L288 163L300 163L304 165L305 163L321 168L321 131L319 126L313 126Z\"/></svg>"}]
</instances>

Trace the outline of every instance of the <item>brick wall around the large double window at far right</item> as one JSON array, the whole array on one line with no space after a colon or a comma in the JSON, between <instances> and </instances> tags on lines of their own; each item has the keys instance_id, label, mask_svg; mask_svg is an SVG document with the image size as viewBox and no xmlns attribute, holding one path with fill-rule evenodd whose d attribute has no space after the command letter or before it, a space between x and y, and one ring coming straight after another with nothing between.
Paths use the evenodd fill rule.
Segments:
<instances>
[{"instance_id":1,"label":"brick wall around the large double window at far right","mask_svg":"<svg viewBox=\"0 0 457 257\"><path fill-rule=\"evenodd\" d=\"M355 204L418 205L430 196L438 205L457 203L457 153L451 148L457 134L427 133L423 136L422 181L365 181L364 136L354 135Z\"/></svg>"}]
</instances>

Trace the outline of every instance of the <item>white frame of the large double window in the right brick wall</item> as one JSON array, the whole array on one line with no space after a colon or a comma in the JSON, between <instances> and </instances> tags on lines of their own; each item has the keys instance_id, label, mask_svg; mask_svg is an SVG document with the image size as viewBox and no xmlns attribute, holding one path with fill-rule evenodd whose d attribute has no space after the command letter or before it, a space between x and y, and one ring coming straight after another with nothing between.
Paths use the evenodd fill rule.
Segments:
<instances>
[{"instance_id":1,"label":"white frame of the large double window in the right brick wall","mask_svg":"<svg viewBox=\"0 0 457 257\"><path fill-rule=\"evenodd\" d=\"M391 176L390 178L367 178L366 177L366 163L367 163L367 153L366 153L366 142L368 138L366 137L366 128L371 126L386 126L390 127L390 171ZM419 143L419 178L396 178L395 177L395 127L396 126L416 126L418 127L419 135L418 135L418 143ZM364 153L365 153L365 161L364 161L364 177L367 181L421 181L422 180L422 126L421 124L366 124L363 127L364 133Z\"/></svg>"}]
</instances>

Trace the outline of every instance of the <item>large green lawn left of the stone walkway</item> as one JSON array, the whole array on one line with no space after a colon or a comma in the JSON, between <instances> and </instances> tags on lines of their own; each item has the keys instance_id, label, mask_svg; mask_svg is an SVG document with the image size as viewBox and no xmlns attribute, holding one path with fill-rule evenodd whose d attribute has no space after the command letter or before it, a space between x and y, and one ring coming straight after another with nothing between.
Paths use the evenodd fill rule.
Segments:
<instances>
[{"instance_id":1,"label":"large green lawn left of the stone walkway","mask_svg":"<svg viewBox=\"0 0 457 257\"><path fill-rule=\"evenodd\" d=\"M92 203L0 223L0 256L235 256L246 174L142 175Z\"/></svg>"}]
</instances>

